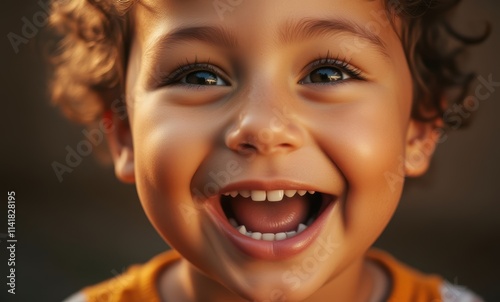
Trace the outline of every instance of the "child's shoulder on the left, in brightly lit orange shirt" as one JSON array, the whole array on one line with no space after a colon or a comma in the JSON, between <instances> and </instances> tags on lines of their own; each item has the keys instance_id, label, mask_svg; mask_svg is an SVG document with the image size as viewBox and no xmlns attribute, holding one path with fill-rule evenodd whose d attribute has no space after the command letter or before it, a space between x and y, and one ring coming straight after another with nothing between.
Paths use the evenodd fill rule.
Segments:
<instances>
[{"instance_id":1,"label":"child's shoulder on the left, in brightly lit orange shirt","mask_svg":"<svg viewBox=\"0 0 500 302\"><path fill-rule=\"evenodd\" d=\"M175 251L157 255L142 265L133 265L126 272L68 297L64 302L160 301L157 279L161 271L180 259Z\"/></svg>"}]
</instances>

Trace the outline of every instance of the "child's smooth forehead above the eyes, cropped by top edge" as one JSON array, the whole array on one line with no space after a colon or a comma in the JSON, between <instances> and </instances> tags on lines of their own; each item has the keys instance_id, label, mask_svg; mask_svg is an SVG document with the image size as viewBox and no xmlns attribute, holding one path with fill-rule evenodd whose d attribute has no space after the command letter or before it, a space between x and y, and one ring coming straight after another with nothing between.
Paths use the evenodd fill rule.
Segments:
<instances>
[{"instance_id":1,"label":"child's smooth forehead above the eyes, cropped by top edge","mask_svg":"<svg viewBox=\"0 0 500 302\"><path fill-rule=\"evenodd\" d=\"M181 40L198 35L230 45L266 38L290 42L331 31L357 36L384 52L386 41L395 36L382 0L143 0L133 19L134 36L142 45L168 32ZM216 30L179 31L207 27Z\"/></svg>"}]
</instances>

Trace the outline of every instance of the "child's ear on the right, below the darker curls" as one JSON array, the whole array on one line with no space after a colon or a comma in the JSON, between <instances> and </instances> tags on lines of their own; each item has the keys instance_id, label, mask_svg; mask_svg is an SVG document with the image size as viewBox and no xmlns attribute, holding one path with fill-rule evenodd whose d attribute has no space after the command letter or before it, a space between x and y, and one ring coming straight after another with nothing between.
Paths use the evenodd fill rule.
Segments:
<instances>
[{"instance_id":1,"label":"child's ear on the right, below the darker curls","mask_svg":"<svg viewBox=\"0 0 500 302\"><path fill-rule=\"evenodd\" d=\"M440 139L442 120L434 121L410 120L406 133L405 175L417 177L424 174Z\"/></svg>"}]
</instances>

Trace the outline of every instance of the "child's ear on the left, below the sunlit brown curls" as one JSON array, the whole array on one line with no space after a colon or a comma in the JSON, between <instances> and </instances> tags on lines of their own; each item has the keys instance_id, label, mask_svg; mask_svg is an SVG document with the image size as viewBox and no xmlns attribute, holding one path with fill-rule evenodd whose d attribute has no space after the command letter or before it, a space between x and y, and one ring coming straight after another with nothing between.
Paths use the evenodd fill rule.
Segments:
<instances>
[{"instance_id":1,"label":"child's ear on the left, below the sunlit brown curls","mask_svg":"<svg viewBox=\"0 0 500 302\"><path fill-rule=\"evenodd\" d=\"M135 183L134 147L128 118L120 118L109 110L103 115L103 123L109 125L106 138L116 177L124 183Z\"/></svg>"}]
</instances>

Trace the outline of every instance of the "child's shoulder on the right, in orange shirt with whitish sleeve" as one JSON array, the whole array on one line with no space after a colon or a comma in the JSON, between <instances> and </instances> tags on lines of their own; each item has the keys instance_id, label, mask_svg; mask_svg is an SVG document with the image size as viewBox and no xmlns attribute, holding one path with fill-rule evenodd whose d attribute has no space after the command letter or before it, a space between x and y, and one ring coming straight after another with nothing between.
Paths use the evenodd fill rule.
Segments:
<instances>
[{"instance_id":1,"label":"child's shoulder on the right, in orange shirt with whitish sleeve","mask_svg":"<svg viewBox=\"0 0 500 302\"><path fill-rule=\"evenodd\" d=\"M367 258L390 277L388 301L483 302L465 287L452 285L437 275L424 274L383 251L370 250Z\"/></svg>"}]
</instances>

